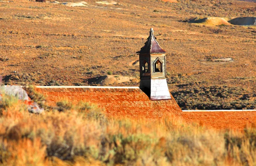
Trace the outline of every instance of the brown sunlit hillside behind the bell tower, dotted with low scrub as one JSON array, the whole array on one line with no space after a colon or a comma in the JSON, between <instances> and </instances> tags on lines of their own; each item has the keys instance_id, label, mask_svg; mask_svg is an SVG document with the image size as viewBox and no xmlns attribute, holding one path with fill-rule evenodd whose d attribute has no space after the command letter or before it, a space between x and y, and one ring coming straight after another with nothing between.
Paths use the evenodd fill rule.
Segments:
<instances>
[{"instance_id":1,"label":"brown sunlit hillside behind the bell tower, dotted with low scrub","mask_svg":"<svg viewBox=\"0 0 256 166\"><path fill-rule=\"evenodd\" d=\"M109 72L139 78L138 65L132 64L149 29L154 28L158 42L169 53L172 91L195 83L255 87L255 27L188 21L195 17L255 17L256 3L115 2L103 5L88 0L80 7L28 0L1 2L0 74L5 84L88 85L88 79ZM221 58L233 60L212 60ZM114 85L137 86L138 82Z\"/></svg>"}]
</instances>

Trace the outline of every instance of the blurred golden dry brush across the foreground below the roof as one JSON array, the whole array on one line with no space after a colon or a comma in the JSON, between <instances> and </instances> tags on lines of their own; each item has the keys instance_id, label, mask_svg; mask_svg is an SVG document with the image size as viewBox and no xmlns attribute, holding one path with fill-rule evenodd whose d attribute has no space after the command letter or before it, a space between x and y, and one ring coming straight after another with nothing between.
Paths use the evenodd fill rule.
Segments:
<instances>
[{"instance_id":1,"label":"blurred golden dry brush across the foreground below the roof","mask_svg":"<svg viewBox=\"0 0 256 166\"><path fill-rule=\"evenodd\" d=\"M88 103L58 103L30 114L15 98L0 101L2 165L255 165L256 129L206 129L169 117L154 122L107 118Z\"/></svg>"}]
</instances>

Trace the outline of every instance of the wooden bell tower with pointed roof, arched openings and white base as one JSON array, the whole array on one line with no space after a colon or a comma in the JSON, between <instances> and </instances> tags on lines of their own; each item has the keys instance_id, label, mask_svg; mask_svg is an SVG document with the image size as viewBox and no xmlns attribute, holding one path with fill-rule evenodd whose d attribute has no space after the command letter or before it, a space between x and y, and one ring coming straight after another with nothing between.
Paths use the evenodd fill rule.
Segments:
<instances>
[{"instance_id":1,"label":"wooden bell tower with pointed roof, arched openings and white base","mask_svg":"<svg viewBox=\"0 0 256 166\"><path fill-rule=\"evenodd\" d=\"M150 29L148 41L137 54L140 58L140 88L151 100L170 99L166 81L166 51L154 37L153 28Z\"/></svg>"}]
</instances>

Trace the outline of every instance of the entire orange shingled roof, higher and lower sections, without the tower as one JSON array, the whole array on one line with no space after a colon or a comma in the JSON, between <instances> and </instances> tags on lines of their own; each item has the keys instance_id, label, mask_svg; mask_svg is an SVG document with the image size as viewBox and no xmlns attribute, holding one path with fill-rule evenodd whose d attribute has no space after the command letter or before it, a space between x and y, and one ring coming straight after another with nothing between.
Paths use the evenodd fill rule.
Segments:
<instances>
[{"instance_id":1,"label":"entire orange shingled roof, higher and lower sections, without the tower","mask_svg":"<svg viewBox=\"0 0 256 166\"><path fill-rule=\"evenodd\" d=\"M238 129L256 126L256 111L184 111L173 96L169 100L150 100L139 87L37 87L46 94L47 103L55 106L62 99L87 101L105 108L108 116L155 120L175 115L187 122L200 123L216 129Z\"/></svg>"}]
</instances>

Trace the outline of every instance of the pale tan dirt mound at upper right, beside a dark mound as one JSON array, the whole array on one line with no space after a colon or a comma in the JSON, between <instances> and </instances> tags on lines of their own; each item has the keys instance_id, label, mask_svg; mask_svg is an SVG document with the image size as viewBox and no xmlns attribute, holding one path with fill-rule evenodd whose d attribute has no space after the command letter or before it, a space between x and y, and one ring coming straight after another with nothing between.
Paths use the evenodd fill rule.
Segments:
<instances>
[{"instance_id":1,"label":"pale tan dirt mound at upper right, beside a dark mound","mask_svg":"<svg viewBox=\"0 0 256 166\"><path fill-rule=\"evenodd\" d=\"M222 17L206 17L206 18L194 18L189 20L189 23L201 23L205 25L231 25L227 18Z\"/></svg>"}]
</instances>

